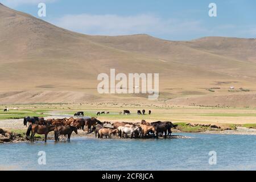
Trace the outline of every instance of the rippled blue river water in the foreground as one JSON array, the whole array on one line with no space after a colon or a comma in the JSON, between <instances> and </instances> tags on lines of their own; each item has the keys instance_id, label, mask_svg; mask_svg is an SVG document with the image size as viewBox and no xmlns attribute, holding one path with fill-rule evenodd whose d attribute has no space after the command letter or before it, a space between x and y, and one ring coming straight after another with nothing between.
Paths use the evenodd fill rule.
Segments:
<instances>
[{"instance_id":1,"label":"rippled blue river water in the foreground","mask_svg":"<svg viewBox=\"0 0 256 182\"><path fill-rule=\"evenodd\" d=\"M0 169L256 170L256 135L189 134L188 139L94 139L0 144ZM38 164L38 152L46 164ZM209 164L210 151L216 164Z\"/></svg>"}]
</instances>

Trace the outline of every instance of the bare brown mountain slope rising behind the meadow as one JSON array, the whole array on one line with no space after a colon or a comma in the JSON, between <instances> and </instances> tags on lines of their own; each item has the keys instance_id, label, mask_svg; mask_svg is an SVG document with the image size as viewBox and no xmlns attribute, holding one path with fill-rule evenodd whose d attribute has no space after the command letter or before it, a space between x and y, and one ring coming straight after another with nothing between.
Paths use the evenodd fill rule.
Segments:
<instances>
[{"instance_id":1,"label":"bare brown mountain slope rising behind the meadow","mask_svg":"<svg viewBox=\"0 0 256 182\"><path fill-rule=\"evenodd\" d=\"M253 39L172 42L148 35L82 35L3 5L0 19L2 103L119 100L120 96L97 94L97 75L109 73L110 68L160 73L161 97L167 99L207 95L205 89L219 82L256 90ZM9 90L14 93L6 94Z\"/></svg>"}]
</instances>

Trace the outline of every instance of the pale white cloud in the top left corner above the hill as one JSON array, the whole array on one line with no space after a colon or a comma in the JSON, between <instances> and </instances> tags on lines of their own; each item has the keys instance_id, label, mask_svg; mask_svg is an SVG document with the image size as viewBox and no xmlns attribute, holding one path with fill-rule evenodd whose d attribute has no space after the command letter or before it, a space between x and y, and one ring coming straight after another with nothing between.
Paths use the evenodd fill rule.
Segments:
<instances>
[{"instance_id":1,"label":"pale white cloud in the top left corner above the hill","mask_svg":"<svg viewBox=\"0 0 256 182\"><path fill-rule=\"evenodd\" d=\"M8 7L17 7L19 5L37 5L40 2L44 3L52 3L57 0L2 0L0 1L3 5L8 6Z\"/></svg>"}]
</instances>

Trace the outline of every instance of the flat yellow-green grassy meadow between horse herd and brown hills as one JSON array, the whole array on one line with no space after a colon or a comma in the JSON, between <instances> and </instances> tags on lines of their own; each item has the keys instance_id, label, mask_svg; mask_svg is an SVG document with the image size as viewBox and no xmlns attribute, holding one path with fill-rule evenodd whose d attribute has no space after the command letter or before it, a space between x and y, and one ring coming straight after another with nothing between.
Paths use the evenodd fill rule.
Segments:
<instances>
[{"instance_id":1,"label":"flat yellow-green grassy meadow between horse herd and brown hills","mask_svg":"<svg viewBox=\"0 0 256 182\"><path fill-rule=\"evenodd\" d=\"M5 107L9 112L4 112ZM11 108L18 107L18 110ZM205 126L189 126L188 123L202 125L217 125L222 128L236 129L235 126L243 126L256 129L256 109L253 107L200 107L200 106L166 106L166 105L137 105L137 104L27 104L27 105L1 105L0 119L18 119L25 116L51 117L63 115L68 117L77 111L84 111L86 116L97 117L100 121L126 121L140 122L142 119L152 121L172 121L179 125L179 129L187 132L212 130ZM119 114L128 109L131 115ZM137 110L146 110L145 115L137 115ZM151 115L148 115L151 110ZM110 114L97 115L98 111L109 111ZM43 114L42 114L43 113ZM217 129L213 129L217 130Z\"/></svg>"}]
</instances>

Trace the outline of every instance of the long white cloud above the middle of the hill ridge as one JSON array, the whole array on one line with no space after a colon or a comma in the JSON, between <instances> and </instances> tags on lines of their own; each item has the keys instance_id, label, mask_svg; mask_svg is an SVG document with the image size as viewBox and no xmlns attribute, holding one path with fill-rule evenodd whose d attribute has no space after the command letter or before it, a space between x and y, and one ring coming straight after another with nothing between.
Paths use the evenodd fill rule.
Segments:
<instances>
[{"instance_id":1,"label":"long white cloud above the middle of the hill ridge","mask_svg":"<svg viewBox=\"0 0 256 182\"><path fill-rule=\"evenodd\" d=\"M168 36L196 34L207 31L200 21L162 19L151 14L119 15L64 15L51 23L68 30L90 35L150 34Z\"/></svg>"}]
</instances>

